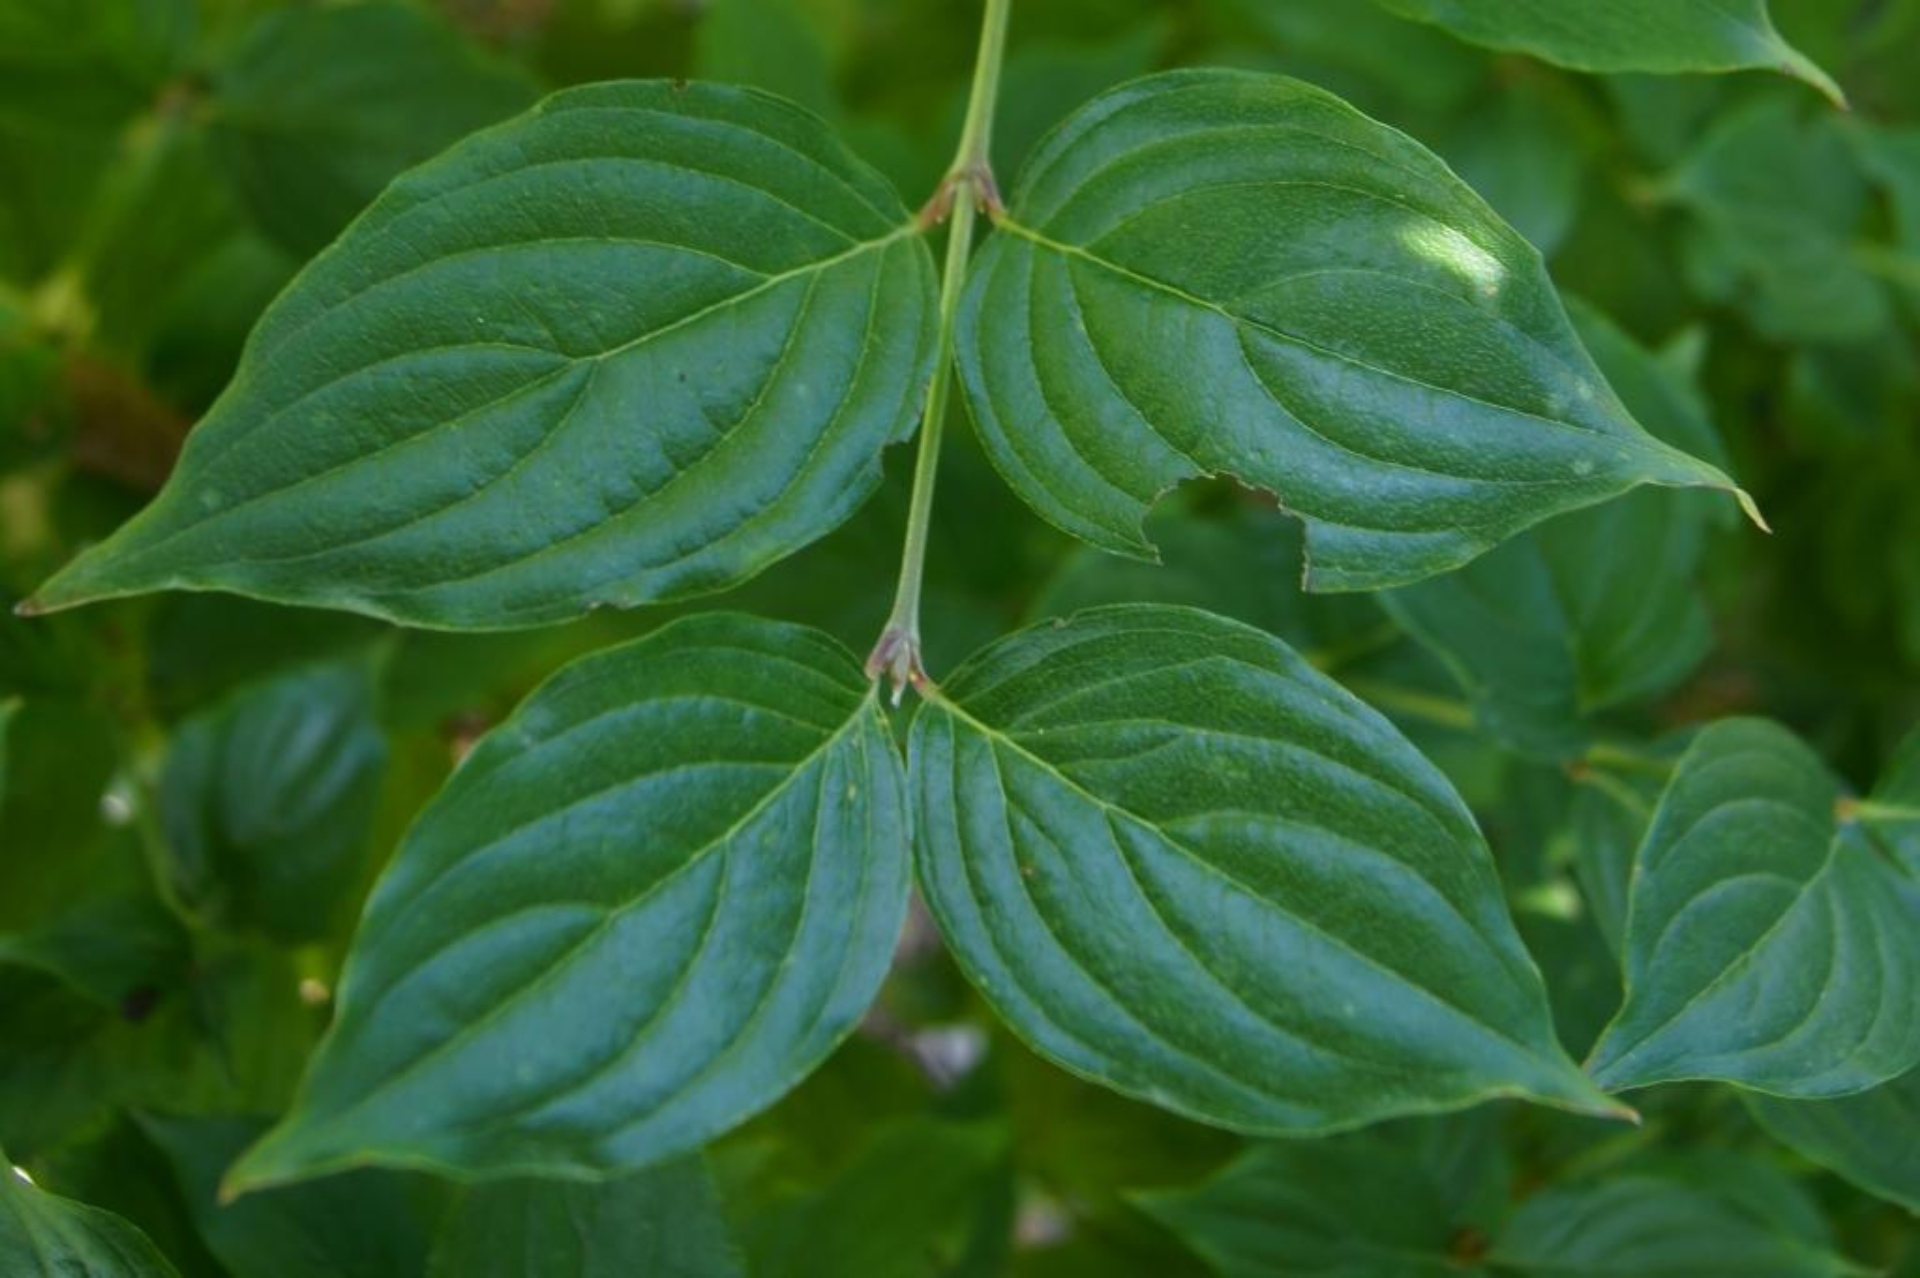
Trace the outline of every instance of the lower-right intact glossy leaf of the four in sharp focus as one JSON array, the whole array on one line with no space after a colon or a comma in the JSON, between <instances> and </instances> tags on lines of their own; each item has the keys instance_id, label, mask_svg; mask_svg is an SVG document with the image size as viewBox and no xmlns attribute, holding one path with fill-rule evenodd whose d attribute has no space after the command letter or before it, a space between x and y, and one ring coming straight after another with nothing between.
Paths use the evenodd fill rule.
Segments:
<instances>
[{"instance_id":1,"label":"lower-right intact glossy leaf of the four in sharp focus","mask_svg":"<svg viewBox=\"0 0 1920 1278\"><path fill-rule=\"evenodd\" d=\"M1248 1132L1609 1111L1465 806L1281 641L1158 606L1039 626L922 708L910 758L941 933L1066 1069Z\"/></svg>"}]
</instances>

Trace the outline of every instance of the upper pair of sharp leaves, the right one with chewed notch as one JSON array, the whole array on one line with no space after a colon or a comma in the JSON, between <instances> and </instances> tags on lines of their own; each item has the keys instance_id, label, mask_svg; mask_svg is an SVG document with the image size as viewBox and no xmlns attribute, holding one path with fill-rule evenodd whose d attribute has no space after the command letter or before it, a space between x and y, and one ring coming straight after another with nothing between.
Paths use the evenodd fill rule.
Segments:
<instances>
[{"instance_id":1,"label":"upper pair of sharp leaves, the right one with chewed notch","mask_svg":"<svg viewBox=\"0 0 1920 1278\"><path fill-rule=\"evenodd\" d=\"M186 587L492 629L739 583L910 434L922 230L764 94L555 94L315 259L161 497L29 610ZM1638 484L1732 487L1632 420L1538 253L1438 159L1279 77L1148 77L1056 130L956 355L1048 520L1150 555L1158 493L1235 474L1306 520L1327 589Z\"/></svg>"}]
</instances>

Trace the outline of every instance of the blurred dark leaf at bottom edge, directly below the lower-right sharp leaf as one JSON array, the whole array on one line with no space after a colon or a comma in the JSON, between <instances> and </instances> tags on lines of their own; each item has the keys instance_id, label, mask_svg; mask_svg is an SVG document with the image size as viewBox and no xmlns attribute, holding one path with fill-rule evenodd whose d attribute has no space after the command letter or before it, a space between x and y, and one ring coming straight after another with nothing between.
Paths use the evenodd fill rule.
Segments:
<instances>
[{"instance_id":1,"label":"blurred dark leaf at bottom edge, directly below the lower-right sharp leaf","mask_svg":"<svg viewBox=\"0 0 1920 1278\"><path fill-rule=\"evenodd\" d=\"M1382 1132L1261 1144L1200 1186L1135 1201L1223 1278L1459 1274L1463 1192L1496 1169L1467 1169L1463 1186L1438 1148L1407 1144Z\"/></svg>"}]
</instances>

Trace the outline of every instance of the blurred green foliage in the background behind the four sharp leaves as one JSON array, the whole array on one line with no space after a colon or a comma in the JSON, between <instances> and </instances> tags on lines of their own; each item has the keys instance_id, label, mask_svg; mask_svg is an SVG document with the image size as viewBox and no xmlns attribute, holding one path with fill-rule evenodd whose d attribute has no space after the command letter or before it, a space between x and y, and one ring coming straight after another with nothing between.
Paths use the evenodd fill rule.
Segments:
<instances>
[{"instance_id":1,"label":"blurred green foliage in the background behind the four sharp leaves","mask_svg":"<svg viewBox=\"0 0 1920 1278\"><path fill-rule=\"evenodd\" d=\"M1636 413L1722 453L1774 535L1642 493L1440 581L1308 599L1298 533L1256 493L1190 485L1156 512L1165 566L1102 558L1029 516L958 428L935 677L1091 603L1194 603L1283 633L1469 796L1584 1052L1619 998L1609 865L1674 733L1770 714L1866 785L1920 718L1920 0L1772 10L1849 113L1764 75L1572 75L1359 0L1016 6L1002 186L1062 115L1152 69L1325 84L1440 152L1542 249ZM699 77L822 113L918 203L958 132L977 17L972 0L0 0L0 603L154 495L267 301L401 169L549 88ZM906 482L889 457L849 526L701 606L864 651ZM0 620L10 1159L125 1215L190 1276L505 1274L507 1243L486 1240L538 1194L643 1234L555 1272L682 1272L716 1249L828 1276L1323 1272L1356 1255L1375 1266L1338 1272L1645 1272L1626 1220L1707 1238L1711 1272L1851 1272L1843 1255L1920 1274L1885 1192L1905 1174L1920 1207L1910 1155L1874 1197L1726 1090L1649 1094L1634 1130L1496 1105L1250 1144L1031 1057L924 925L864 1030L705 1171L593 1192L357 1172L217 1207L227 1157L288 1103L411 816L557 664L674 612L459 637L177 595ZM1768 1126L1789 1136L1791 1117ZM1920 1130L1893 1138L1920 1148Z\"/></svg>"}]
</instances>

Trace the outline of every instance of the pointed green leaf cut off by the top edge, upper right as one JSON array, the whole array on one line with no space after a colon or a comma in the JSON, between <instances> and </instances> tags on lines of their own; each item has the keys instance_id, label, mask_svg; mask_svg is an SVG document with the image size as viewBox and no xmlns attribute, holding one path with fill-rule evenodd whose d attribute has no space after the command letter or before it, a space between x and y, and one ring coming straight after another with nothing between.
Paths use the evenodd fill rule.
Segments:
<instances>
[{"instance_id":1,"label":"pointed green leaf cut off by the top edge, upper right","mask_svg":"<svg viewBox=\"0 0 1920 1278\"><path fill-rule=\"evenodd\" d=\"M1461 40L1576 71L1780 71L1836 106L1834 79L1788 44L1766 0L1379 0Z\"/></svg>"}]
</instances>

